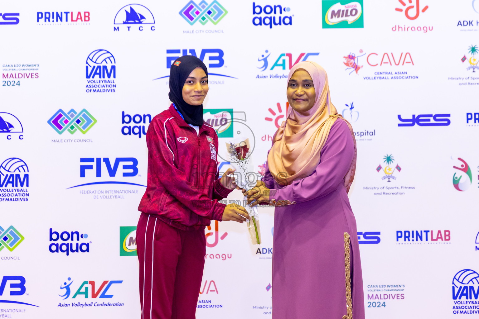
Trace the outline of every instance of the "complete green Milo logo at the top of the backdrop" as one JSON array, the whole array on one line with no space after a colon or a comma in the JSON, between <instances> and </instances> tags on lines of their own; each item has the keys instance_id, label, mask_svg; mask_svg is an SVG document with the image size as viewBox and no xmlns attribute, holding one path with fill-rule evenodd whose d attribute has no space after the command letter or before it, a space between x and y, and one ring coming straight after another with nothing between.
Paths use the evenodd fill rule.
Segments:
<instances>
[{"instance_id":1,"label":"complete green Milo logo at the top of the backdrop","mask_svg":"<svg viewBox=\"0 0 479 319\"><path fill-rule=\"evenodd\" d=\"M363 0L322 0L323 29L363 28Z\"/></svg>"}]
</instances>

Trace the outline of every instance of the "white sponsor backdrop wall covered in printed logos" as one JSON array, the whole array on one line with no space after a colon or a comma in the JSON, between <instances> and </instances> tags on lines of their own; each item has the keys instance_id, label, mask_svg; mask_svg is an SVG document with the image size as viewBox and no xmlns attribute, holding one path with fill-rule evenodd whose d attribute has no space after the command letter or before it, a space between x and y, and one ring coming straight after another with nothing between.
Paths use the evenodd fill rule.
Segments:
<instances>
[{"instance_id":1,"label":"white sponsor backdrop wall covered in printed logos","mask_svg":"<svg viewBox=\"0 0 479 319\"><path fill-rule=\"evenodd\" d=\"M210 72L220 171L224 143L246 136L258 176L289 69L322 65L357 142L349 197L367 318L478 314L479 1L42 0L0 12L1 318L139 317L145 133L185 54ZM274 210L260 218L259 246L245 224L205 229L197 318L271 318Z\"/></svg>"}]
</instances>

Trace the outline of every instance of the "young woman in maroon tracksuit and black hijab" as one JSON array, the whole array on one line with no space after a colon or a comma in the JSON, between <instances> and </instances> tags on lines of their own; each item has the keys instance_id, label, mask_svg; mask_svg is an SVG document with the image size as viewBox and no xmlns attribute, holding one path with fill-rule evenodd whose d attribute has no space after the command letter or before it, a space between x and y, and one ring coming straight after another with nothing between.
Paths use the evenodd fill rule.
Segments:
<instances>
[{"instance_id":1,"label":"young woman in maroon tracksuit and black hijab","mask_svg":"<svg viewBox=\"0 0 479 319\"><path fill-rule=\"evenodd\" d=\"M236 187L218 179L218 137L203 121L208 71L197 57L171 66L173 102L153 118L148 145L148 186L138 210L141 319L194 319L205 265L205 226L211 220L249 218L246 209L219 203Z\"/></svg>"}]
</instances>

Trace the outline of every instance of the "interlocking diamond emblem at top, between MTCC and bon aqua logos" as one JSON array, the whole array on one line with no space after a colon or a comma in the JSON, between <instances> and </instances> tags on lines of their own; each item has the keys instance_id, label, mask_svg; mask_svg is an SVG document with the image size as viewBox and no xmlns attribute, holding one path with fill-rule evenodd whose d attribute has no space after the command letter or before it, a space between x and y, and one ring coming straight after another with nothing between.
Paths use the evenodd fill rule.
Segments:
<instances>
[{"instance_id":1,"label":"interlocking diamond emblem at top, between MTCC and bon aqua logos","mask_svg":"<svg viewBox=\"0 0 479 319\"><path fill-rule=\"evenodd\" d=\"M191 25L198 21L203 25L208 23L208 21L216 25L227 15L228 11L217 0L212 1L210 4L203 0L199 5L191 0L179 13Z\"/></svg>"}]
</instances>

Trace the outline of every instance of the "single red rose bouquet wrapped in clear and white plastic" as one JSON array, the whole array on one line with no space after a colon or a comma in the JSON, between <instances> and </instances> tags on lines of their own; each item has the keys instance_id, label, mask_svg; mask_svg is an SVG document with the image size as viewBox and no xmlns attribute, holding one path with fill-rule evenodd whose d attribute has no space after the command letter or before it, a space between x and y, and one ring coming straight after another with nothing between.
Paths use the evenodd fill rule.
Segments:
<instances>
[{"instance_id":1,"label":"single red rose bouquet wrapped in clear and white plastic","mask_svg":"<svg viewBox=\"0 0 479 319\"><path fill-rule=\"evenodd\" d=\"M229 162L236 170L236 185L243 189L250 190L256 185L257 176L252 173L252 167L250 166L251 151L249 139L240 138L238 141L232 141L229 142L229 144L226 143L226 149L228 151ZM243 198L244 203L246 203L246 199L247 197L245 196ZM251 242L253 245L259 245L261 244L261 231L258 209L256 206L248 206L245 208L248 211L248 215L250 215L250 219L247 220L247 225Z\"/></svg>"}]
</instances>

